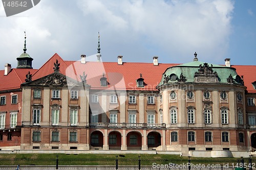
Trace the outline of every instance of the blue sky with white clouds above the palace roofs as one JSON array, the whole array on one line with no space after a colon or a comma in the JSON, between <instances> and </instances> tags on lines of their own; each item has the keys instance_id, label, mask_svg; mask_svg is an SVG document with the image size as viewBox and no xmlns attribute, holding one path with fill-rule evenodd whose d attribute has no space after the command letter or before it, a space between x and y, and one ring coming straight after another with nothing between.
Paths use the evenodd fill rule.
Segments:
<instances>
[{"instance_id":1,"label":"blue sky with white clouds above the palace roofs","mask_svg":"<svg viewBox=\"0 0 256 170\"><path fill-rule=\"evenodd\" d=\"M57 53L64 60L97 54L117 62L187 63L199 61L256 65L254 0L41 0L6 17L0 2L0 69L17 66L24 31L33 68Z\"/></svg>"}]
</instances>

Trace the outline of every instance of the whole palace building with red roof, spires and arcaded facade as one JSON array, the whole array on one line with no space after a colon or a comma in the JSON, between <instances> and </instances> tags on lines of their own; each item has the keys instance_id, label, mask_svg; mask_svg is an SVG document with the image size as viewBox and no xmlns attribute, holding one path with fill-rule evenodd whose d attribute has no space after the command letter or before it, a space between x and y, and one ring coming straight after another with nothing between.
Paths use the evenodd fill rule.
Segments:
<instances>
[{"instance_id":1,"label":"whole palace building with red roof, spires and arcaded facade","mask_svg":"<svg viewBox=\"0 0 256 170\"><path fill-rule=\"evenodd\" d=\"M99 46L99 44L98 44ZM256 66L65 61L0 70L0 149L256 150Z\"/></svg>"}]
</instances>

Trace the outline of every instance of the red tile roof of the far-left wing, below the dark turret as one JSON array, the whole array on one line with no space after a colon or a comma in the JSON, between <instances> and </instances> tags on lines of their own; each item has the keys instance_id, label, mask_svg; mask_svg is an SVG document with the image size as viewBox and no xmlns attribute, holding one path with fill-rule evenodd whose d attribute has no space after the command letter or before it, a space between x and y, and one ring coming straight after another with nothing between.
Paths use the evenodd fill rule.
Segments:
<instances>
[{"instance_id":1,"label":"red tile roof of the far-left wing, below the dark turret","mask_svg":"<svg viewBox=\"0 0 256 170\"><path fill-rule=\"evenodd\" d=\"M26 75L34 74L36 69L29 68L12 68L8 75L5 76L5 70L0 70L0 91L20 88L20 84L25 82Z\"/></svg>"}]
</instances>

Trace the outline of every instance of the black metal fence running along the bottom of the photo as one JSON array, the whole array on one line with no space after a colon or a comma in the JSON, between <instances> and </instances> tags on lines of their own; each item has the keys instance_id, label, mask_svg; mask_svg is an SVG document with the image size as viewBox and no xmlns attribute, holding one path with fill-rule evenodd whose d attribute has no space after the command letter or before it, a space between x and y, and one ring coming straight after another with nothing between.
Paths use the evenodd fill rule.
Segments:
<instances>
[{"instance_id":1,"label":"black metal fence running along the bottom of the photo","mask_svg":"<svg viewBox=\"0 0 256 170\"><path fill-rule=\"evenodd\" d=\"M123 155L116 158L0 158L0 169L256 169L256 158L194 158L180 157L179 159L127 159Z\"/></svg>"}]
</instances>

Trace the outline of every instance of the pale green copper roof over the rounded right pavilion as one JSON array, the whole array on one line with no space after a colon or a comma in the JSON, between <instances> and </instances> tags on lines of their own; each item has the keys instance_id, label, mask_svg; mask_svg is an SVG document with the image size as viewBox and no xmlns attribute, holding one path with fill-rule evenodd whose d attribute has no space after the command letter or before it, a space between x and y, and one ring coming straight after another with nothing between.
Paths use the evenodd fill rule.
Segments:
<instances>
[{"instance_id":1,"label":"pale green copper roof over the rounded right pavilion","mask_svg":"<svg viewBox=\"0 0 256 170\"><path fill-rule=\"evenodd\" d=\"M195 72L199 71L200 65L203 66L204 62L193 61L193 62L169 67L165 70L159 85L164 84L164 78L165 78L164 75L166 75L166 77L170 78L170 80L168 80L168 82L166 84L178 83L179 82L178 79L180 79L181 73L186 79L185 83L194 83ZM231 75L232 78L234 79L233 80L234 83L241 84L241 82L238 80L239 76L238 76L235 68L217 65L217 64L210 64L210 63L208 63L208 66L212 68L213 72L217 72L218 81L219 81L218 83L228 83L227 78ZM174 80L175 79L174 75L176 75L176 77L177 77L176 80Z\"/></svg>"}]
</instances>

